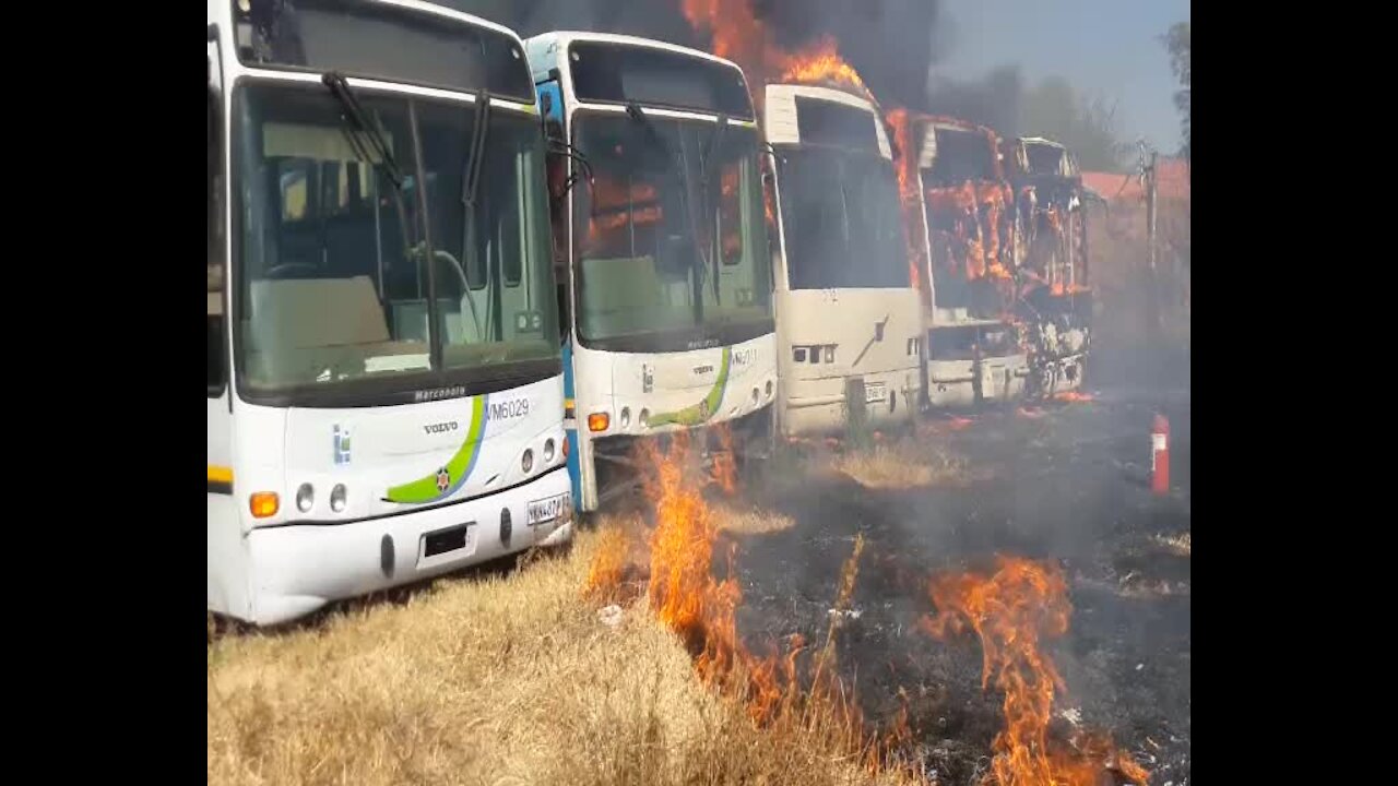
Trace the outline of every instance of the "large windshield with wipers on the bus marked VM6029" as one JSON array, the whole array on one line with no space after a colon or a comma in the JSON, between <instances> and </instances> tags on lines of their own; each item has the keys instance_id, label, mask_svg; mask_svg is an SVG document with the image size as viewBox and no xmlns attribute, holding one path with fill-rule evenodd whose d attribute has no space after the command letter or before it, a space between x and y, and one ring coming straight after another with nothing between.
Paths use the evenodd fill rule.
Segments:
<instances>
[{"instance_id":1,"label":"large windshield with wipers on the bus marked VM6029","mask_svg":"<svg viewBox=\"0 0 1398 786\"><path fill-rule=\"evenodd\" d=\"M528 361L552 361L556 373L537 117L489 110L468 200L478 112L471 103L356 90L387 148L380 161L324 85L239 90L238 365L250 390L369 378L401 378L405 387L464 371L474 382L517 379ZM438 317L429 327L433 285Z\"/></svg>"}]
</instances>

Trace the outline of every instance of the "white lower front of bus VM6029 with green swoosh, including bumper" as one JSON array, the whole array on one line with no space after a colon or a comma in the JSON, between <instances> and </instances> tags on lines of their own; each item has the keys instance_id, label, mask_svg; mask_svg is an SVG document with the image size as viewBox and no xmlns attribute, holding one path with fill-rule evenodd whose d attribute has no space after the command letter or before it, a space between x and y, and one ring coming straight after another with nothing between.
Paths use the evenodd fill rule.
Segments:
<instances>
[{"instance_id":1,"label":"white lower front of bus VM6029 with green swoosh, including bumper","mask_svg":"<svg viewBox=\"0 0 1398 786\"><path fill-rule=\"evenodd\" d=\"M215 516L210 494L210 608L274 624L331 600L569 537L562 407L559 376L394 407L235 403L233 494L226 498L236 515ZM453 476L454 466L466 469ZM313 490L305 510L298 505L303 484ZM345 488L340 510L330 503L337 485ZM259 491L277 492L274 516L252 517L249 499ZM554 502L547 520L530 522L531 502ZM463 547L422 554L424 536L460 524L468 524Z\"/></svg>"}]
</instances>

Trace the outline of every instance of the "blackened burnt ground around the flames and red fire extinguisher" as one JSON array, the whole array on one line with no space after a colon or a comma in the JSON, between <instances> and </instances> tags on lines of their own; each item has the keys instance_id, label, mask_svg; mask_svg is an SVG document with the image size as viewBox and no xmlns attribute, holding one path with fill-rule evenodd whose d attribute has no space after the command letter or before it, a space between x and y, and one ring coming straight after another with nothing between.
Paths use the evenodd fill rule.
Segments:
<instances>
[{"instance_id":1,"label":"blackened burnt ground around the flames and red fire extinguisher","mask_svg":"<svg viewBox=\"0 0 1398 786\"><path fill-rule=\"evenodd\" d=\"M928 445L986 473L966 488L867 491L830 474L752 490L797 524L741 538L738 624L748 646L766 652L795 632L821 641L840 565L864 533L858 617L839 638L842 671L877 723L896 713L903 689L916 740L907 752L942 783L970 783L1002 726L1001 695L981 691L974 635L941 642L917 628L931 611L927 578L987 568L995 554L1055 559L1072 603L1068 634L1044 645L1067 684L1055 712L1110 731L1152 772L1152 785L1187 785L1188 541L1181 550L1163 538L1190 531L1188 390L1095 394L1046 406L1039 417L1000 410L965 428L932 421ZM1158 410L1170 422L1173 492L1163 498L1148 487Z\"/></svg>"}]
</instances>

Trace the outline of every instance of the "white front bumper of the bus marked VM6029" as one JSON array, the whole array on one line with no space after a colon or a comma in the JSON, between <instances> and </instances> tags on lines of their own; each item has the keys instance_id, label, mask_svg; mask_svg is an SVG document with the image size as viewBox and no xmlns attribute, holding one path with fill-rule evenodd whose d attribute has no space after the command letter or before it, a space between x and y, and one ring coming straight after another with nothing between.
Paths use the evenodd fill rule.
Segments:
<instances>
[{"instance_id":1,"label":"white front bumper of the bus marked VM6029","mask_svg":"<svg viewBox=\"0 0 1398 786\"><path fill-rule=\"evenodd\" d=\"M568 470L514 488L347 523L288 523L247 534L252 620L274 625L359 597L573 534ZM531 503L552 517L528 522Z\"/></svg>"}]
</instances>

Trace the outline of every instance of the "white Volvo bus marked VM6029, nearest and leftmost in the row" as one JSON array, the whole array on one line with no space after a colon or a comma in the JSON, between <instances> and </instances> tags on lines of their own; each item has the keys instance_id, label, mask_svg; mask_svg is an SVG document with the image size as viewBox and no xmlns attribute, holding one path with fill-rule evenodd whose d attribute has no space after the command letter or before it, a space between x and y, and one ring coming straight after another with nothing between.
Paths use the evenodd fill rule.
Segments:
<instances>
[{"instance_id":1,"label":"white Volvo bus marked VM6029, nearest and leftmost in the row","mask_svg":"<svg viewBox=\"0 0 1398 786\"><path fill-rule=\"evenodd\" d=\"M211 611L570 537L544 155L509 29L210 0Z\"/></svg>"}]
</instances>

